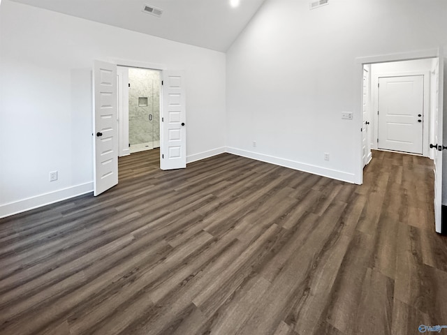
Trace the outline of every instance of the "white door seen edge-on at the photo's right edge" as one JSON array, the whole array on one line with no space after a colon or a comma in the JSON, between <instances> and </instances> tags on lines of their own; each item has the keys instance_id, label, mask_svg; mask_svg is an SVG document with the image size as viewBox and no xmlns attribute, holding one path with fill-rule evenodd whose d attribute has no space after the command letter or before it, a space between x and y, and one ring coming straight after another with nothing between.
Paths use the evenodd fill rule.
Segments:
<instances>
[{"instance_id":1,"label":"white door seen edge-on at the photo's right edge","mask_svg":"<svg viewBox=\"0 0 447 335\"><path fill-rule=\"evenodd\" d=\"M439 57L439 64L435 71L437 77L437 96L438 103L436 113L434 113L434 145L430 145L434 152L434 225L435 230L441 233L442 229L442 204L446 204L446 200L443 195L443 164L442 164L442 145L443 145L443 111L444 111L444 80L447 76L444 70L447 70L445 66L446 59ZM433 143L432 143L433 144ZM439 150L441 149L441 150ZM444 186L445 188L445 186ZM444 192L446 193L446 192Z\"/></svg>"}]
</instances>

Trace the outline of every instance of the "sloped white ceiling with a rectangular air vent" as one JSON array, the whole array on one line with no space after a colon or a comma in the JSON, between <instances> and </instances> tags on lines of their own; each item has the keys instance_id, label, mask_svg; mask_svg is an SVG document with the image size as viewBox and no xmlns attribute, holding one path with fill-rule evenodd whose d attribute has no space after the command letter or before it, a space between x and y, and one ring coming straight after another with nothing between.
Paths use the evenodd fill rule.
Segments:
<instances>
[{"instance_id":1,"label":"sloped white ceiling with a rectangular air vent","mask_svg":"<svg viewBox=\"0 0 447 335\"><path fill-rule=\"evenodd\" d=\"M265 0L13 0L181 43L226 52ZM142 12L145 4L161 17Z\"/></svg>"}]
</instances>

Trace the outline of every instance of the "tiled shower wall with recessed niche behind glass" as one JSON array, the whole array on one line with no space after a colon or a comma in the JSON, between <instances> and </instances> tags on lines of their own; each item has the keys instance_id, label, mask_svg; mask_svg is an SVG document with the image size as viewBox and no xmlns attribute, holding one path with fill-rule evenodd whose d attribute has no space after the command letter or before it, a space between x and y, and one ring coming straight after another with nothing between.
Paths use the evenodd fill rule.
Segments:
<instances>
[{"instance_id":1,"label":"tiled shower wall with recessed niche behind glass","mask_svg":"<svg viewBox=\"0 0 447 335\"><path fill-rule=\"evenodd\" d=\"M160 140L160 72L129 68L129 143L131 145ZM138 98L147 98L147 106L138 106ZM152 121L149 121L152 114Z\"/></svg>"}]
</instances>

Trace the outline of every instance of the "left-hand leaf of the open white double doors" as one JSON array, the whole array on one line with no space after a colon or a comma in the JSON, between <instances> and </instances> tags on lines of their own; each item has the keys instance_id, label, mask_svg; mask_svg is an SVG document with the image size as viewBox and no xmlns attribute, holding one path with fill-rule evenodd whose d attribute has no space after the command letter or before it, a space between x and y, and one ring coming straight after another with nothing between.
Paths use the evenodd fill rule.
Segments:
<instances>
[{"instance_id":1,"label":"left-hand leaf of the open white double doors","mask_svg":"<svg viewBox=\"0 0 447 335\"><path fill-rule=\"evenodd\" d=\"M118 184L117 66L94 61L94 195Z\"/></svg>"}]
</instances>

